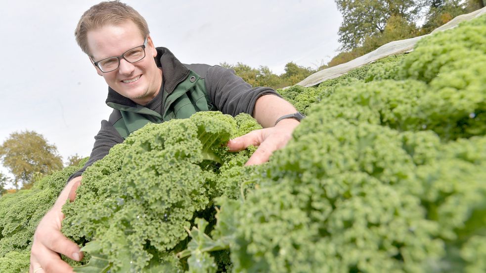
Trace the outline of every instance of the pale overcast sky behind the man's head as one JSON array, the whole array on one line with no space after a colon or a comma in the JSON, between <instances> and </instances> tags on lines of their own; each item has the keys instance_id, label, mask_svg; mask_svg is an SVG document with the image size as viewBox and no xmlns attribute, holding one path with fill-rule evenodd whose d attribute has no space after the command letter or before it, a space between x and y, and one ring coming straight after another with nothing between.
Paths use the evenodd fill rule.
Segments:
<instances>
[{"instance_id":1,"label":"pale overcast sky behind the man's head","mask_svg":"<svg viewBox=\"0 0 486 273\"><path fill-rule=\"evenodd\" d=\"M33 130L68 156L89 156L112 109L107 85L74 38L99 1L0 0L0 143ZM241 62L275 74L288 62L316 68L339 48L341 14L332 0L126 0L146 19L156 46L182 63ZM7 170L0 166L0 171Z\"/></svg>"}]
</instances>

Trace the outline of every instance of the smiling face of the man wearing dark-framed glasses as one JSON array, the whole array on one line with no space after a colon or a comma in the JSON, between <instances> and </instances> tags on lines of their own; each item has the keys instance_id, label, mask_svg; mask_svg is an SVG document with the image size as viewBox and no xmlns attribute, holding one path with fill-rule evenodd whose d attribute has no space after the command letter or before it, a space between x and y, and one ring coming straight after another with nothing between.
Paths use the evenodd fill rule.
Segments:
<instances>
[{"instance_id":1,"label":"smiling face of the man wearing dark-framed glasses","mask_svg":"<svg viewBox=\"0 0 486 273\"><path fill-rule=\"evenodd\" d=\"M87 37L94 62L120 56L127 50L143 44L145 40L132 21L91 30ZM122 58L120 67L112 72L104 73L98 68L96 70L113 90L137 104L145 105L157 95L162 85L162 72L155 64L155 56L157 50L149 36L145 58L135 63L129 63Z\"/></svg>"}]
</instances>

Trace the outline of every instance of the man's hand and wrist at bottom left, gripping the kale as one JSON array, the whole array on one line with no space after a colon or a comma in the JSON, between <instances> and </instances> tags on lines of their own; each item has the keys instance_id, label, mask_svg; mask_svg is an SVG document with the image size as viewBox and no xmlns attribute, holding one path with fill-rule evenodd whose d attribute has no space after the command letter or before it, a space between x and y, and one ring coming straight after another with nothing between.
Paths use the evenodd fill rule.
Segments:
<instances>
[{"instance_id":1,"label":"man's hand and wrist at bottom left, gripping the kale","mask_svg":"<svg viewBox=\"0 0 486 273\"><path fill-rule=\"evenodd\" d=\"M68 198L74 200L81 178L81 176L76 177L66 185L54 206L37 226L30 255L30 273L73 272L73 269L61 260L59 253L75 261L83 258L79 246L61 233L61 222L64 219L61 208Z\"/></svg>"}]
</instances>

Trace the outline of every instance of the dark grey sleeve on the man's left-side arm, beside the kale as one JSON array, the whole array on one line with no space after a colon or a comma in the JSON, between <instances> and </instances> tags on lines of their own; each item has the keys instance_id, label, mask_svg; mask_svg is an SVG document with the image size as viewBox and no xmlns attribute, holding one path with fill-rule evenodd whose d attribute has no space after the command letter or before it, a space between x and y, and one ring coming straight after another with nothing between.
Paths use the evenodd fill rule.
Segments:
<instances>
[{"instance_id":1,"label":"dark grey sleeve on the man's left-side arm, beside the kale","mask_svg":"<svg viewBox=\"0 0 486 273\"><path fill-rule=\"evenodd\" d=\"M115 127L111 125L111 123L107 120L101 121L101 129L99 130L98 134L94 137L94 145L93 150L91 151L91 155L89 156L88 162L86 162L85 166L77 171L76 173L72 174L68 182L71 179L83 175L83 172L91 166L94 162L98 161L99 159L108 155L111 147L115 146L116 144L122 143L123 138L117 132Z\"/></svg>"}]
</instances>

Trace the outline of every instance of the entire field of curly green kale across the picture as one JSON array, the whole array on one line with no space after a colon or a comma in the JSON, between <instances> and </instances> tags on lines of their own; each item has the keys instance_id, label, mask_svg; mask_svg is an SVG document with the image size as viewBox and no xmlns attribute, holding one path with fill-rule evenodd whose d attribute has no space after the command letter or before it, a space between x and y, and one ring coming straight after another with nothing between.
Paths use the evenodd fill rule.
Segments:
<instances>
[{"instance_id":1,"label":"entire field of curly green kale across the picture","mask_svg":"<svg viewBox=\"0 0 486 273\"><path fill-rule=\"evenodd\" d=\"M76 272L486 272L486 15L339 78L278 90L308 117L268 163L219 112L148 124L83 175ZM70 174L0 198L0 272L25 272Z\"/></svg>"}]
</instances>

